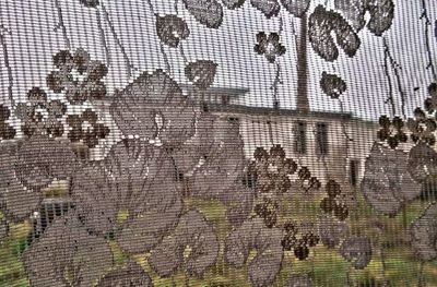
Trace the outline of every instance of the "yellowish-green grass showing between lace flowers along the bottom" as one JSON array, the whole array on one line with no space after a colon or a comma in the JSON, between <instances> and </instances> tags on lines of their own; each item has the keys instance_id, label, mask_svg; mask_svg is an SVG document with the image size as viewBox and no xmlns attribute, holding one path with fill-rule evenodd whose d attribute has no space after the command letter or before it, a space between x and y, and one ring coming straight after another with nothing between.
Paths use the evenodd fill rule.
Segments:
<instances>
[{"instance_id":1,"label":"yellowish-green grass showing between lace flowers along the bottom","mask_svg":"<svg viewBox=\"0 0 437 287\"><path fill-rule=\"evenodd\" d=\"M317 200L306 204L305 208L298 206L297 202L284 204L284 214L287 218L304 219L317 218ZM354 270L338 252L338 249L329 250L321 244L312 248L310 255L305 261L297 260L292 252L285 252L282 268L272 286L283 286L284 282L296 273L309 273L315 286L352 286L370 287L381 286L383 279L390 282L391 286L417 286L421 263L414 258L409 246L409 225L414 220L427 204L421 201L405 206L397 216L389 218L376 214L362 198L358 199L359 216L350 216L347 224L352 227L353 235L369 236L377 243L374 244L373 260L365 270ZM186 201L186 210L197 208L201 211L209 222L214 226L220 242L224 242L232 230L225 218L226 207L218 201L192 200ZM284 218L281 218L283 220ZM380 223L386 232L382 235L375 228L375 222ZM406 228L405 228L406 223ZM0 247L0 287L24 287L28 286L25 270L21 261L21 254L26 248L26 237L29 232L27 222L12 225L10 236ZM115 254L115 263L123 264L126 255L110 241ZM380 247L383 246L385 264L380 255ZM225 264L223 260L223 244L220 249L217 263L209 270L204 278L189 277L190 286L250 286L247 278L247 268L234 268ZM132 256L139 262L153 278L155 286L185 286L187 275L178 272L170 278L160 278L146 262L149 254L137 254ZM385 265L385 268L382 268ZM423 266L423 276L427 287L437 286L437 262L428 262Z\"/></svg>"}]
</instances>

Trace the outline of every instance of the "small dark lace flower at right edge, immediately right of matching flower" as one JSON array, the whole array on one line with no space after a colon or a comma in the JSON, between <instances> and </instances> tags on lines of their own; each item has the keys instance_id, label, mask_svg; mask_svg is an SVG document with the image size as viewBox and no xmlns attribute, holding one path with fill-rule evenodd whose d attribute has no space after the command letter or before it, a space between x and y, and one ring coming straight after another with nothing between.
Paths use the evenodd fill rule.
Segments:
<instances>
[{"instance_id":1,"label":"small dark lace flower at right edge, immediately right of matching flower","mask_svg":"<svg viewBox=\"0 0 437 287\"><path fill-rule=\"evenodd\" d=\"M411 131L410 136L414 143L424 142L430 146L436 143L436 120L427 117L421 108L414 110L414 119L406 120L406 127Z\"/></svg>"}]
</instances>

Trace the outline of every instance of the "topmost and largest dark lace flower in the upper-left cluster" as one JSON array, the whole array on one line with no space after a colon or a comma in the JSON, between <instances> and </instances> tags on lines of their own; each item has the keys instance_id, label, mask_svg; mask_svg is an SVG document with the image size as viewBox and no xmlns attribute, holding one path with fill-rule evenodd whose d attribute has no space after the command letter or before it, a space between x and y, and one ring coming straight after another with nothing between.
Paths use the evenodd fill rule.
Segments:
<instances>
[{"instance_id":1,"label":"topmost and largest dark lace flower in the upper-left cluster","mask_svg":"<svg viewBox=\"0 0 437 287\"><path fill-rule=\"evenodd\" d=\"M72 105L82 105L87 99L99 99L106 95L106 86L102 79L108 69L99 61L90 59L82 48L73 55L61 50L54 56L57 70L47 75L47 85L55 93L66 93Z\"/></svg>"}]
</instances>

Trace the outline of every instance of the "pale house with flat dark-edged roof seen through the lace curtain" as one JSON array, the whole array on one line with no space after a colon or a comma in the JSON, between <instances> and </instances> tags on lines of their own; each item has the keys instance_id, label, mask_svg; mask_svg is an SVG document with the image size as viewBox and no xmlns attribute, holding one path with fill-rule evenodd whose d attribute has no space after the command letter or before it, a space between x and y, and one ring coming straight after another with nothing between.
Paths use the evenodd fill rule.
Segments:
<instances>
[{"instance_id":1,"label":"pale house with flat dark-edged roof seen through the lace curtain","mask_svg":"<svg viewBox=\"0 0 437 287\"><path fill-rule=\"evenodd\" d=\"M378 123L352 113L249 107L233 104L248 93L245 88L214 87L191 98L202 101L204 110L220 120L237 123L247 158L257 147L281 145L286 156L324 182L336 179L357 187L364 176L364 163L376 139ZM232 125L229 125L232 127Z\"/></svg>"}]
</instances>

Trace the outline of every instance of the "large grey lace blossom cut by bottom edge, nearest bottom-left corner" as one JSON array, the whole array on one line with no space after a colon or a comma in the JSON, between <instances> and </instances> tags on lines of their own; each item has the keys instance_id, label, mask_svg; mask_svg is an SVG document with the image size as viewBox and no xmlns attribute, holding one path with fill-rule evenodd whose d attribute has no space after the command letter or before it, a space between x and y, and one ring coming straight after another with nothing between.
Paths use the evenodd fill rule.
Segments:
<instances>
[{"instance_id":1,"label":"large grey lace blossom cut by bottom edge, nearest bottom-left corner","mask_svg":"<svg viewBox=\"0 0 437 287\"><path fill-rule=\"evenodd\" d=\"M90 235L74 213L55 219L23 260L35 287L93 286L113 265L110 247Z\"/></svg>"}]
</instances>

